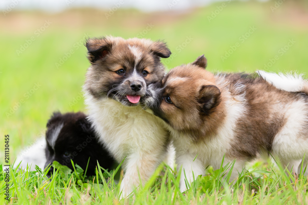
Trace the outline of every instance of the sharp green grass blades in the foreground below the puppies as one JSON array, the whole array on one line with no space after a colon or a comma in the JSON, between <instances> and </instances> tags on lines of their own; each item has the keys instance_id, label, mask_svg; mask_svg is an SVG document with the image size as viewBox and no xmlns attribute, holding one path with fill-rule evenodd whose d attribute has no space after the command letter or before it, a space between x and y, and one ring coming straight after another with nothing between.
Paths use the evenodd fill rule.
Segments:
<instances>
[{"instance_id":1,"label":"sharp green grass blades in the foreground below the puppies","mask_svg":"<svg viewBox=\"0 0 308 205\"><path fill-rule=\"evenodd\" d=\"M36 171L11 172L10 203L12 204L307 204L307 178L292 175L281 166L260 164L259 168L244 169L237 180L229 181L233 163L218 170L207 168L207 175L198 176L188 185L188 190L179 190L180 174L166 165L157 168L144 187L134 191L134 196L119 200L119 186L114 180L115 170L99 168L96 176L85 177L84 171L75 165L74 171L54 162L57 168L48 178L48 168ZM1 167L2 165L0 165ZM1 167L2 168L2 167ZM265 169L260 169L265 168ZM304 170L304 169L303 169ZM183 173L181 173L183 174ZM123 173L121 173L120 179ZM1 196L5 183L0 176ZM0 203L5 204L4 197Z\"/></svg>"}]
</instances>

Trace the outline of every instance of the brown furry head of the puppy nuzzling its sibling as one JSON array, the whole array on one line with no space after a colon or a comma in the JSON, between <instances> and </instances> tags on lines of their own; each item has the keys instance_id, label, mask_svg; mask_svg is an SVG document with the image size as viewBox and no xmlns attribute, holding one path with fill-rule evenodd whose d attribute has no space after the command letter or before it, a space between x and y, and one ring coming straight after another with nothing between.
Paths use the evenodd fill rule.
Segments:
<instances>
[{"instance_id":1,"label":"brown furry head of the puppy nuzzling its sibling","mask_svg":"<svg viewBox=\"0 0 308 205\"><path fill-rule=\"evenodd\" d=\"M223 114L213 112L223 108L220 90L215 86L214 75L200 66L206 63L198 59L188 65L172 69L163 79L162 96L170 96L173 104L161 101L158 116L183 133L193 133L194 141L215 134ZM209 103L215 96L213 103ZM211 109L206 109L206 107ZM211 119L211 120L208 120Z\"/></svg>"}]
</instances>

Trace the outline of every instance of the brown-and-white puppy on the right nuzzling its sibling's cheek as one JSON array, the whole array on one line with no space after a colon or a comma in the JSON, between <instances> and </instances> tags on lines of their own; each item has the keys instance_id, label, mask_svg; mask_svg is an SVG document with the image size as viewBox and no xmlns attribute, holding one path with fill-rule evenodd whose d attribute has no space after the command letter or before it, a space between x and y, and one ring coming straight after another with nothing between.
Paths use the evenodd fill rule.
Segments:
<instances>
[{"instance_id":1,"label":"brown-and-white puppy on the right nuzzling its sibling's cheek","mask_svg":"<svg viewBox=\"0 0 308 205\"><path fill-rule=\"evenodd\" d=\"M308 83L262 72L214 75L205 67L200 56L172 69L159 87L149 86L154 97L147 103L168 124L182 167L180 189L183 169L191 183L208 165L218 169L224 154L225 164L236 159L233 179L262 151L297 171L308 152Z\"/></svg>"}]
</instances>

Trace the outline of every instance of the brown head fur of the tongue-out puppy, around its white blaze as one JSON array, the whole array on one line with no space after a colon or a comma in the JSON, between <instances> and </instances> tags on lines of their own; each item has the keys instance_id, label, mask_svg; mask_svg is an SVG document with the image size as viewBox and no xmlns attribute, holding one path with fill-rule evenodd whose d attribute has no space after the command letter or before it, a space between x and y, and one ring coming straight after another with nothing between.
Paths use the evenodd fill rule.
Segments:
<instances>
[{"instance_id":1,"label":"brown head fur of the tongue-out puppy, around its white blaze","mask_svg":"<svg viewBox=\"0 0 308 205\"><path fill-rule=\"evenodd\" d=\"M125 40L121 37L102 37L88 39L86 42L88 49L88 59L91 67L86 74L85 87L96 99L102 97L114 97L123 88L129 88L129 81L125 82L122 88L114 89L125 78L132 74L134 68L140 74L142 71L148 71L144 76L144 87L150 83L161 81L164 77L164 66L160 62L160 57L169 57L171 52L162 41L150 41L147 39L132 38ZM134 47L140 53L140 60L129 47ZM125 75L119 75L116 71L124 69ZM129 93L130 95L140 95L144 93ZM107 96L108 95L108 96Z\"/></svg>"}]
</instances>

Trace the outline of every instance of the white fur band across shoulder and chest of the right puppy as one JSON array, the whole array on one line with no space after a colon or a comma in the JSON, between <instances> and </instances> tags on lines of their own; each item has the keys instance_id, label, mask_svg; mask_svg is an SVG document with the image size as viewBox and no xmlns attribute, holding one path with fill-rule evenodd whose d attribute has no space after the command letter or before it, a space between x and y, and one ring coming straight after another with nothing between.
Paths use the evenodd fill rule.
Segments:
<instances>
[{"instance_id":1,"label":"white fur band across shoulder and chest of the right puppy","mask_svg":"<svg viewBox=\"0 0 308 205\"><path fill-rule=\"evenodd\" d=\"M194 159L198 155L196 160L199 160L205 167L212 165L214 168L219 168L224 154L228 153L231 142L234 139L236 121L246 111L245 103L243 103L244 99L240 99L240 97L237 96L236 101L232 98L228 99L225 105L226 117L216 135L201 139L195 143L191 140L190 136L172 131L171 136L177 157L181 158L181 155L189 155L189 158L192 157ZM179 161L183 161L183 159L178 159L177 162L179 163Z\"/></svg>"}]
</instances>

